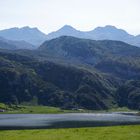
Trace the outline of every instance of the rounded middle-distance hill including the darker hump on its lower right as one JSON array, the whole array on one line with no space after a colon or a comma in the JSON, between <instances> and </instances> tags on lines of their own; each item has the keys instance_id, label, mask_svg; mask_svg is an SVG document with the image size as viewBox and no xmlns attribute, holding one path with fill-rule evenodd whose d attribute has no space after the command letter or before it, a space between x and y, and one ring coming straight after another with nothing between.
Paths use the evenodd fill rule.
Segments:
<instances>
[{"instance_id":1,"label":"rounded middle-distance hill including the darker hump on its lower right","mask_svg":"<svg viewBox=\"0 0 140 140\"><path fill-rule=\"evenodd\" d=\"M93 41L62 36L38 49L45 58L92 66L121 79L140 77L140 48L120 41Z\"/></svg>"}]
</instances>

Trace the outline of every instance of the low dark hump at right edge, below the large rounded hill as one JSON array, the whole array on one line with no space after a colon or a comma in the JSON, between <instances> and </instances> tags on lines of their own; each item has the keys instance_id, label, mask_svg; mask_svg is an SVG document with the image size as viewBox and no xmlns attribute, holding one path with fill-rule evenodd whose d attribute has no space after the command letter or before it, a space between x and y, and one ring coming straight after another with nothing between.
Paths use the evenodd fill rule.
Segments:
<instances>
[{"instance_id":1,"label":"low dark hump at right edge, below the large rounded hill","mask_svg":"<svg viewBox=\"0 0 140 140\"><path fill-rule=\"evenodd\" d=\"M140 58L112 57L100 61L95 68L125 80L140 79Z\"/></svg>"}]
</instances>

